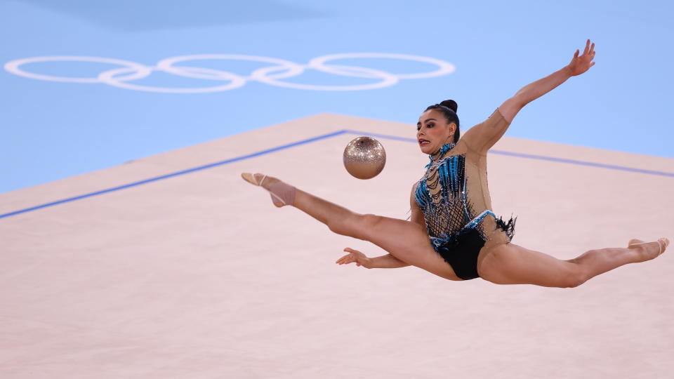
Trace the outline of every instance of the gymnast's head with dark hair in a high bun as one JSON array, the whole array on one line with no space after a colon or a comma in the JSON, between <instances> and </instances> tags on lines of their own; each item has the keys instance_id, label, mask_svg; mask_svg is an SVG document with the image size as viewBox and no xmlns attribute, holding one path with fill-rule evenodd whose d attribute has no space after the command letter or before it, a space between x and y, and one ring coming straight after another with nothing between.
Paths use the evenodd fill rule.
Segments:
<instances>
[{"instance_id":1,"label":"gymnast's head with dark hair in a high bun","mask_svg":"<svg viewBox=\"0 0 674 379\"><path fill-rule=\"evenodd\" d=\"M456 143L459 138L458 105L454 100L444 100L430 105L416 124L416 138L425 154L433 154L446 143Z\"/></svg>"}]
</instances>

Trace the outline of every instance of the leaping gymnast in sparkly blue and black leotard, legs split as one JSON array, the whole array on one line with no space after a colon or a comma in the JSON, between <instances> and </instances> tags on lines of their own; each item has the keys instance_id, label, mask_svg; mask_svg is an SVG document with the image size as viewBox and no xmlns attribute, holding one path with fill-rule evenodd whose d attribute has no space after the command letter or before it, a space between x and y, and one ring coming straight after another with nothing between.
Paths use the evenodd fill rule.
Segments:
<instances>
[{"instance_id":1,"label":"leaping gymnast in sparkly blue and black leotard, legs split","mask_svg":"<svg viewBox=\"0 0 674 379\"><path fill-rule=\"evenodd\" d=\"M515 220L505 222L491 211L487 151L524 105L595 65L594 48L588 39L582 55L577 50L569 65L524 86L461 139L454 100L425 109L418 120L416 137L430 163L412 187L409 221L355 213L267 175L242 173L242 177L267 189L275 206L294 206L332 232L370 241L388 252L368 258L345 248L348 254L336 261L340 265L414 265L450 280L480 277L496 284L569 288L616 267L654 259L666 249L668 239L632 239L627 248L590 250L577 258L559 260L510 243Z\"/></svg>"}]
</instances>

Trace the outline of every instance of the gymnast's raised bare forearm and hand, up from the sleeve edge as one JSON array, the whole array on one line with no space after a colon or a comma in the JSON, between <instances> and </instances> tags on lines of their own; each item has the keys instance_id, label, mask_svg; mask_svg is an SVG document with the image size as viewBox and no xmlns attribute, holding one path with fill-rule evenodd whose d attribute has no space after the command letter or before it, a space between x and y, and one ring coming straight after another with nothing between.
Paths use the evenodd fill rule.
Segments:
<instances>
[{"instance_id":1,"label":"gymnast's raised bare forearm and hand, up from the sleeve edge","mask_svg":"<svg viewBox=\"0 0 674 379\"><path fill-rule=\"evenodd\" d=\"M588 71L590 67L595 65L595 62L592 61L595 58L595 44L590 46L589 39L585 45L583 55L578 56L579 52L579 50L576 50L574 58L571 59L571 62L566 67L557 72L553 72L553 74L550 74L543 79L539 79L534 81L534 83L524 86L524 88L517 91L512 98L505 100L501 107L498 107L498 110L503 115L505 121L508 121L508 124L510 124L517 112L520 112L520 109L522 109L524 105L527 105L529 102L552 91L553 88L564 83L564 81L567 81L570 77L583 74Z\"/></svg>"}]
</instances>

